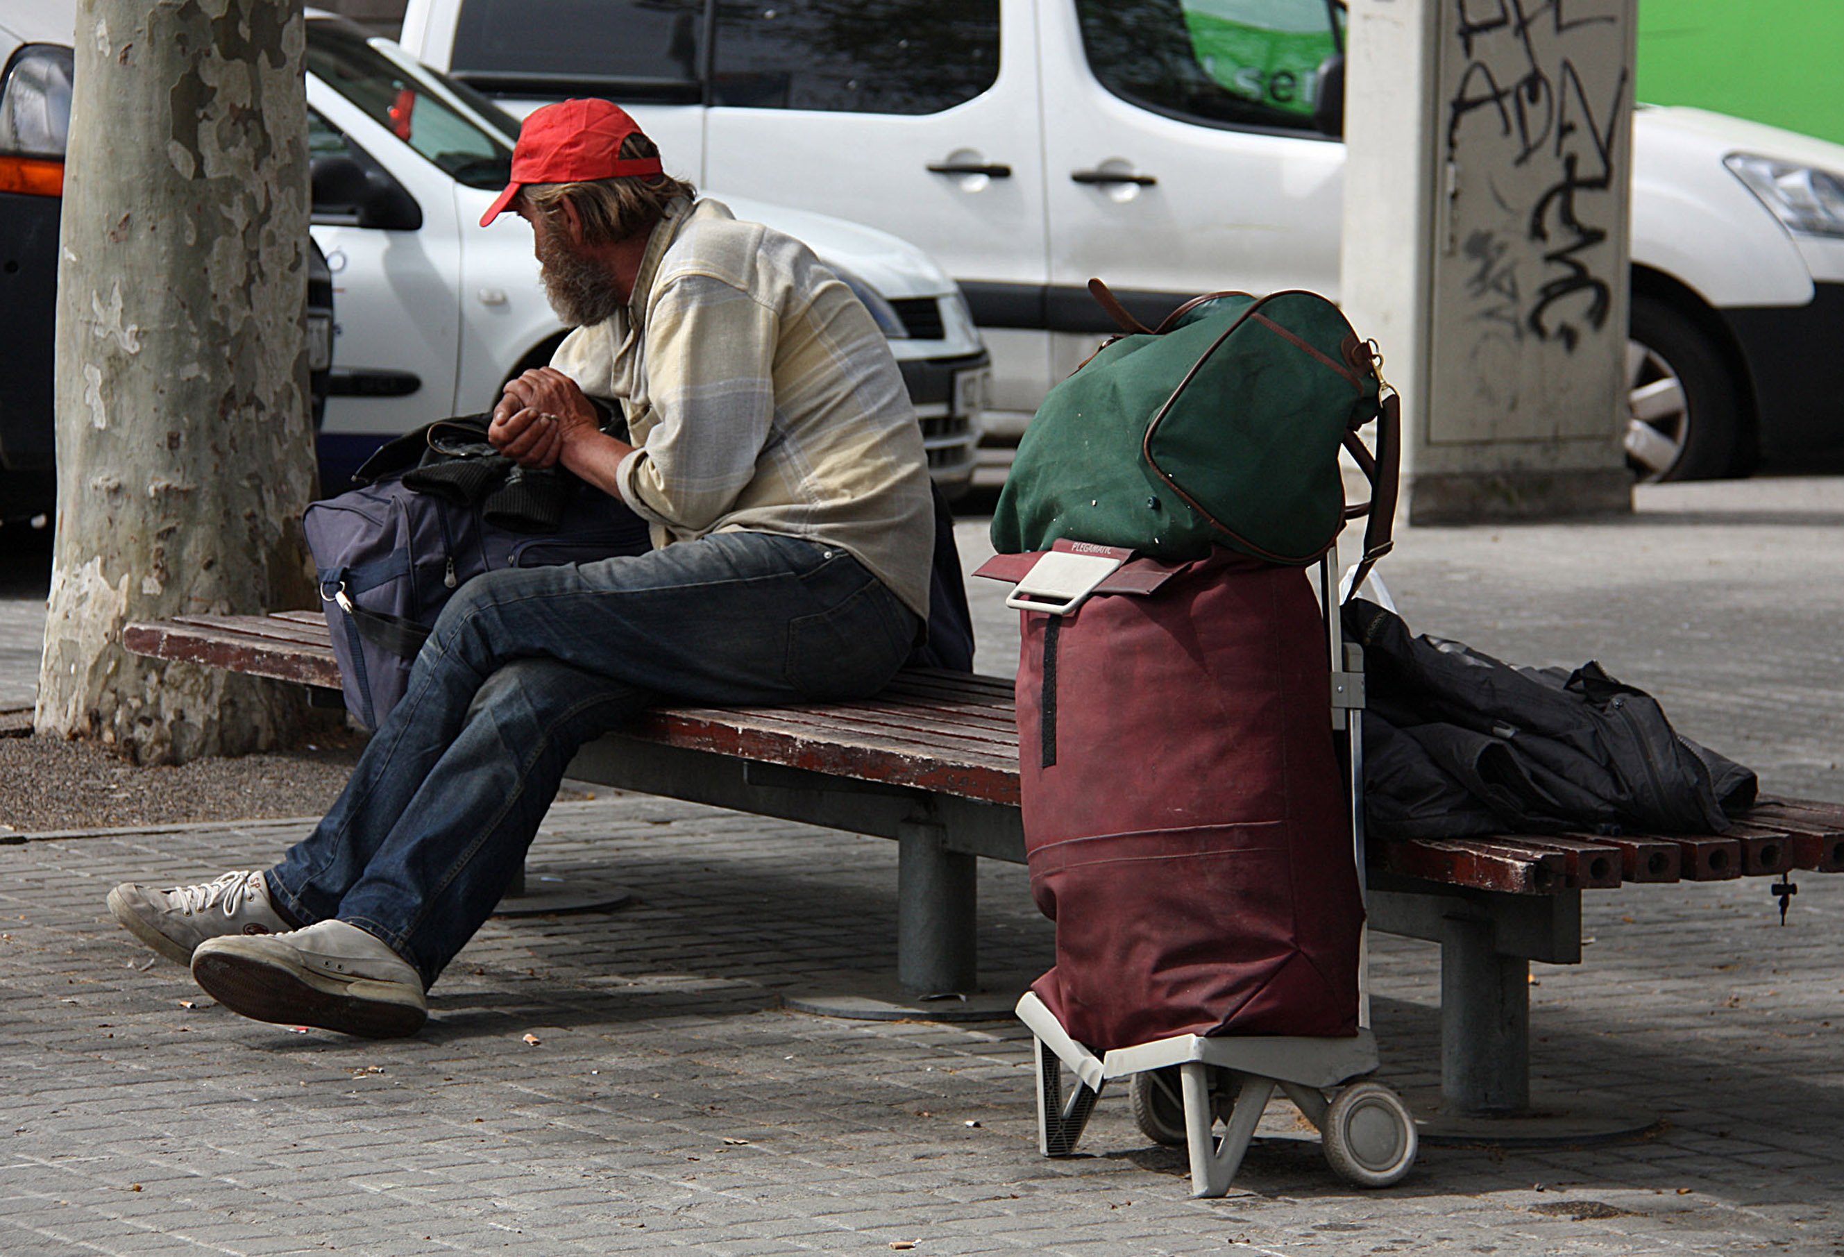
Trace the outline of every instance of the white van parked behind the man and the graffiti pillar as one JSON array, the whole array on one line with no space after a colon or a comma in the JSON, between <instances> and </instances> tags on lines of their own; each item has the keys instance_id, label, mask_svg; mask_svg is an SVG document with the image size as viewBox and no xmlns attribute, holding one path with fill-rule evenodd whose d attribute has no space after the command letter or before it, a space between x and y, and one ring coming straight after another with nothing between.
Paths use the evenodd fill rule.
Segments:
<instances>
[{"instance_id":1,"label":"white van parked behind the man and the graffiti pillar","mask_svg":"<svg viewBox=\"0 0 1844 1257\"><path fill-rule=\"evenodd\" d=\"M1337 293L1344 147L1315 107L1341 24L1337 0L409 0L402 41L514 112L609 96L679 173L915 240L1016 431L1112 330L1092 275L1141 319ZM1634 461L1720 476L1844 437L1844 147L1685 109L1634 129Z\"/></svg>"}]
</instances>

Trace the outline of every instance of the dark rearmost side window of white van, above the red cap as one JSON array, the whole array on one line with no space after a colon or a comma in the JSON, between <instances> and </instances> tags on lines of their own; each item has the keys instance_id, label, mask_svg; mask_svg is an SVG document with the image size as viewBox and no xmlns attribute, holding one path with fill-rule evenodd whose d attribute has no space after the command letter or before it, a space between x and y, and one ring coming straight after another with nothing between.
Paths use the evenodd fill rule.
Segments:
<instances>
[{"instance_id":1,"label":"dark rearmost side window of white van, above the red cap","mask_svg":"<svg viewBox=\"0 0 1844 1257\"><path fill-rule=\"evenodd\" d=\"M463 0L450 72L483 92L695 105L704 0Z\"/></svg>"}]
</instances>

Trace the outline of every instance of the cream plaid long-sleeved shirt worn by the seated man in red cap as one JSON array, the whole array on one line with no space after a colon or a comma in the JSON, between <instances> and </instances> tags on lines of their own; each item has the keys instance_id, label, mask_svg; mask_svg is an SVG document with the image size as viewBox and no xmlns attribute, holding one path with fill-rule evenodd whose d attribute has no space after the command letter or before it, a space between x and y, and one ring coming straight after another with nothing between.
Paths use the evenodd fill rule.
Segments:
<instances>
[{"instance_id":1,"label":"cream plaid long-sleeved shirt worn by the seated man in red cap","mask_svg":"<svg viewBox=\"0 0 1844 1257\"><path fill-rule=\"evenodd\" d=\"M933 505L889 343L798 240L677 201L627 310L551 359L627 415L621 498L655 546L719 531L837 546L928 617Z\"/></svg>"}]
</instances>

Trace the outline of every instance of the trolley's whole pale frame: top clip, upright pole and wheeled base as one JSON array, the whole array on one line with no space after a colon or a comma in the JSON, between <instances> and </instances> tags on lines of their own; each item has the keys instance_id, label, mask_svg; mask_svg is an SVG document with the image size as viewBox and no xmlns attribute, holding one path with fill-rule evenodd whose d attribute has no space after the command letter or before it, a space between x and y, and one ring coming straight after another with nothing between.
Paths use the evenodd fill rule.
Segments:
<instances>
[{"instance_id":1,"label":"trolley's whole pale frame: top clip, upright pole and wheeled base","mask_svg":"<svg viewBox=\"0 0 1844 1257\"><path fill-rule=\"evenodd\" d=\"M1031 606L1047 610L1046 603L1058 590L1036 588L1046 584L1049 573L1033 575L1031 593L1038 599ZM1066 595L1066 614L1101 577L1081 590L1073 571L1062 575L1071 579L1071 588L1060 590ZM1353 719L1365 706L1363 651L1342 640L1337 610L1341 590L1333 581L1330 553L1318 564L1318 592L1331 660L1331 726L1346 735L1344 776L1357 868L1363 870L1363 737L1357 735ZM1368 1028L1370 995L1363 960L1359 984L1361 1028L1355 1038L1180 1034L1117 1047L1105 1056L1095 1056L1071 1040L1051 1010L1033 992L1025 992L1018 1001L1018 1017L1036 1036L1038 1148L1049 1157L1070 1156L1103 1087L1114 1078L1130 1078L1140 1130L1158 1143L1188 1145L1191 1194L1221 1196L1243 1163L1261 1111L1280 1089L1318 1128L1326 1161L1341 1178L1359 1187L1389 1187L1414 1165L1414 1119L1401 1097L1368 1076L1377 1067L1377 1047ZM1064 1067L1075 1075L1068 1095L1062 1086Z\"/></svg>"}]
</instances>

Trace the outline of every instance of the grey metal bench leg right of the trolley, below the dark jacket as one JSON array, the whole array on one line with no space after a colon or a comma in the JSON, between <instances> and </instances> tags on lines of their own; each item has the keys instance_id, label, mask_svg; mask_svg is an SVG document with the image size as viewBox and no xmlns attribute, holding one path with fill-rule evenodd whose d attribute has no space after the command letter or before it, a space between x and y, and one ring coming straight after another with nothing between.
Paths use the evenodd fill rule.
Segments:
<instances>
[{"instance_id":1,"label":"grey metal bench leg right of the trolley, below the dark jacket","mask_svg":"<svg viewBox=\"0 0 1844 1257\"><path fill-rule=\"evenodd\" d=\"M1531 962L1492 922L1448 918L1440 940L1440 1097L1446 1113L1531 1106Z\"/></svg>"}]
</instances>

